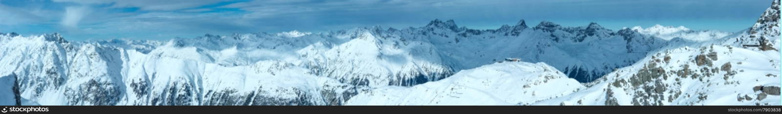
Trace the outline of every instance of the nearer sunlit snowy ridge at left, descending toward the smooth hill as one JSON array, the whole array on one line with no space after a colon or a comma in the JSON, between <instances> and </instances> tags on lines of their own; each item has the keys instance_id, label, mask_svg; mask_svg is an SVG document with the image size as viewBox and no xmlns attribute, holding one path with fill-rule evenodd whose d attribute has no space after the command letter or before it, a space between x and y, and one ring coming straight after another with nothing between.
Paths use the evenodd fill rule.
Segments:
<instances>
[{"instance_id":1,"label":"nearer sunlit snowy ridge at left, descending toward the smooth hill","mask_svg":"<svg viewBox=\"0 0 782 114\"><path fill-rule=\"evenodd\" d=\"M357 89L278 59L224 62L266 56L260 51L177 40L67 42L59 34L0 39L2 79L16 79L3 84L14 85L21 105L339 105Z\"/></svg>"}]
</instances>

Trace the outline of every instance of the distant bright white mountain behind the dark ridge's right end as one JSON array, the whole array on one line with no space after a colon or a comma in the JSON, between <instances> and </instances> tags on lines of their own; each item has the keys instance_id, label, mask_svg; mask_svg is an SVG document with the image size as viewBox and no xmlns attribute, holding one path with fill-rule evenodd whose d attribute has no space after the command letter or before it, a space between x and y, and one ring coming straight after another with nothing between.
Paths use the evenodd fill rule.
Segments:
<instances>
[{"instance_id":1,"label":"distant bright white mountain behind the dark ridge's right end","mask_svg":"<svg viewBox=\"0 0 782 114\"><path fill-rule=\"evenodd\" d=\"M631 30L636 30L640 34L651 35L660 37L665 40L671 40L676 37L680 37L690 41L711 41L719 38L723 38L727 35L733 34L730 32L723 32L717 30L690 30L687 27L664 27L656 24L655 26L643 28L640 26L632 27Z\"/></svg>"}]
</instances>

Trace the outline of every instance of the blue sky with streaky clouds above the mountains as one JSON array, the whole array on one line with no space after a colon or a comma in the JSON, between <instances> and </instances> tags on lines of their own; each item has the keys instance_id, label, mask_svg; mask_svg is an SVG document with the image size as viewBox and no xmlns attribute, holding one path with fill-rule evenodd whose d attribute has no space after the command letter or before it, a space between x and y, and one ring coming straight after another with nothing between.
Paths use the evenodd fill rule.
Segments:
<instances>
[{"instance_id":1,"label":"blue sky with streaky clouds above the mountains","mask_svg":"<svg viewBox=\"0 0 782 114\"><path fill-rule=\"evenodd\" d=\"M0 0L0 33L62 34L69 41L168 40L204 34L312 33L354 27L497 29L526 20L565 27L752 27L770 0Z\"/></svg>"}]
</instances>

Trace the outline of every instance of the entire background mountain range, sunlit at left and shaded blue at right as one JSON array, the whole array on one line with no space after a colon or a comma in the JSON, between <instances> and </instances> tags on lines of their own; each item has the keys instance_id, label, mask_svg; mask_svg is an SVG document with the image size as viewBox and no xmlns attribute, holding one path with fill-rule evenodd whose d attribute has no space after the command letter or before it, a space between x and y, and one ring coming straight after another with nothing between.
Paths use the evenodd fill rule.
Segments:
<instances>
[{"instance_id":1,"label":"entire background mountain range, sunlit at left and shaded blue at right","mask_svg":"<svg viewBox=\"0 0 782 114\"><path fill-rule=\"evenodd\" d=\"M364 87L424 84L509 57L554 64L589 81L665 42L597 23L529 28L522 20L472 30L434 20L404 30L170 41L71 42L59 34L12 33L0 35L0 44L0 62L7 64L0 74L18 79L16 99L25 105L340 105Z\"/></svg>"}]
</instances>

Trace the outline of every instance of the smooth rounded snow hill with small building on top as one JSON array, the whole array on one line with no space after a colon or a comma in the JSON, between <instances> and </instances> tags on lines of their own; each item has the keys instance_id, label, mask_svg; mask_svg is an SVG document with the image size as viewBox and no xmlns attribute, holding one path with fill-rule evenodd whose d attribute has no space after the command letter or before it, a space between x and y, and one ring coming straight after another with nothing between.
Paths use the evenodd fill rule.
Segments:
<instances>
[{"instance_id":1,"label":"smooth rounded snow hill with small building on top","mask_svg":"<svg viewBox=\"0 0 782 114\"><path fill-rule=\"evenodd\" d=\"M543 62L502 62L413 87L361 91L346 105L517 105L582 88L578 81Z\"/></svg>"}]
</instances>

